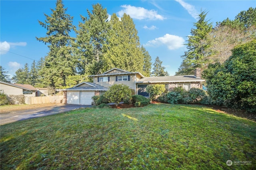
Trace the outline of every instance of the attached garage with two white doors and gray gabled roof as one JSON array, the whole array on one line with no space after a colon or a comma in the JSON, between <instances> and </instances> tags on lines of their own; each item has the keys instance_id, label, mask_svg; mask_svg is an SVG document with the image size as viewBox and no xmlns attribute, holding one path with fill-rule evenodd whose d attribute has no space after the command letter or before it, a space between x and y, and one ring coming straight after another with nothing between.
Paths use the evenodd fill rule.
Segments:
<instances>
[{"instance_id":1,"label":"attached garage with two white doors and gray gabled roof","mask_svg":"<svg viewBox=\"0 0 256 170\"><path fill-rule=\"evenodd\" d=\"M64 89L66 93L67 104L91 105L92 96L100 95L108 88L91 82L82 82L72 88Z\"/></svg>"}]
</instances>

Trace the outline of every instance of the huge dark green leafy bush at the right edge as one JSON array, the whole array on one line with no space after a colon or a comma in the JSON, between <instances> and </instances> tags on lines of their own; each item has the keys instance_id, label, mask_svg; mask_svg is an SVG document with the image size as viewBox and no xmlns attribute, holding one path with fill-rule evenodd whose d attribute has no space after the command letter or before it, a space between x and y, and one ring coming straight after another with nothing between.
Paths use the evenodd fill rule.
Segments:
<instances>
[{"instance_id":1,"label":"huge dark green leafy bush at the right edge","mask_svg":"<svg viewBox=\"0 0 256 170\"><path fill-rule=\"evenodd\" d=\"M223 64L209 64L204 70L207 91L228 107L256 110L256 40L236 46Z\"/></svg>"}]
</instances>

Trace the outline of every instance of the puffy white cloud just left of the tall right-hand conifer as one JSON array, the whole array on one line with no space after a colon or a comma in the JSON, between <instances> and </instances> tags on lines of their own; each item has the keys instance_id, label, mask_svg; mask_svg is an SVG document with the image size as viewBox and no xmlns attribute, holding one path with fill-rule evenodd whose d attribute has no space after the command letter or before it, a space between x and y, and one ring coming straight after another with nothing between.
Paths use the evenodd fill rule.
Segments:
<instances>
[{"instance_id":1,"label":"puffy white cloud just left of the tall right-hand conifer","mask_svg":"<svg viewBox=\"0 0 256 170\"><path fill-rule=\"evenodd\" d=\"M182 37L166 34L163 37L158 37L156 39L148 41L145 46L166 45L169 50L174 50L183 47L184 43L185 40Z\"/></svg>"}]
</instances>

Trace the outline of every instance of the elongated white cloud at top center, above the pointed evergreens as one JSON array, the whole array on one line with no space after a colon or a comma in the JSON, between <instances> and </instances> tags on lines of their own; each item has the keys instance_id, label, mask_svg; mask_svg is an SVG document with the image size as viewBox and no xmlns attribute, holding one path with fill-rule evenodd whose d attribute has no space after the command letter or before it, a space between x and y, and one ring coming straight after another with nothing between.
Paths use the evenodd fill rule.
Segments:
<instances>
[{"instance_id":1,"label":"elongated white cloud at top center, above the pointed evergreens","mask_svg":"<svg viewBox=\"0 0 256 170\"><path fill-rule=\"evenodd\" d=\"M164 20L165 18L159 14L155 10L147 10L142 7L136 7L131 5L122 5L124 10L117 12L118 16L123 16L124 13L128 14L131 18L138 20Z\"/></svg>"}]
</instances>

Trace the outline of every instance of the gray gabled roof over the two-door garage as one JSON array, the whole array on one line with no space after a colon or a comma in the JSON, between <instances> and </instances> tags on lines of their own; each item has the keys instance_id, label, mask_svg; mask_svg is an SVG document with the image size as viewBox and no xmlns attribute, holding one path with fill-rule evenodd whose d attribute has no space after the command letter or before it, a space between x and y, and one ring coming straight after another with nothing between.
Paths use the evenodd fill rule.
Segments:
<instances>
[{"instance_id":1,"label":"gray gabled roof over the two-door garage","mask_svg":"<svg viewBox=\"0 0 256 170\"><path fill-rule=\"evenodd\" d=\"M86 84L88 86L86 86L86 87L80 86L82 84ZM74 87L63 89L63 90L66 90L66 91L107 91L108 88L106 88L104 86L100 86L96 83L82 82L82 83L77 84Z\"/></svg>"}]
</instances>

